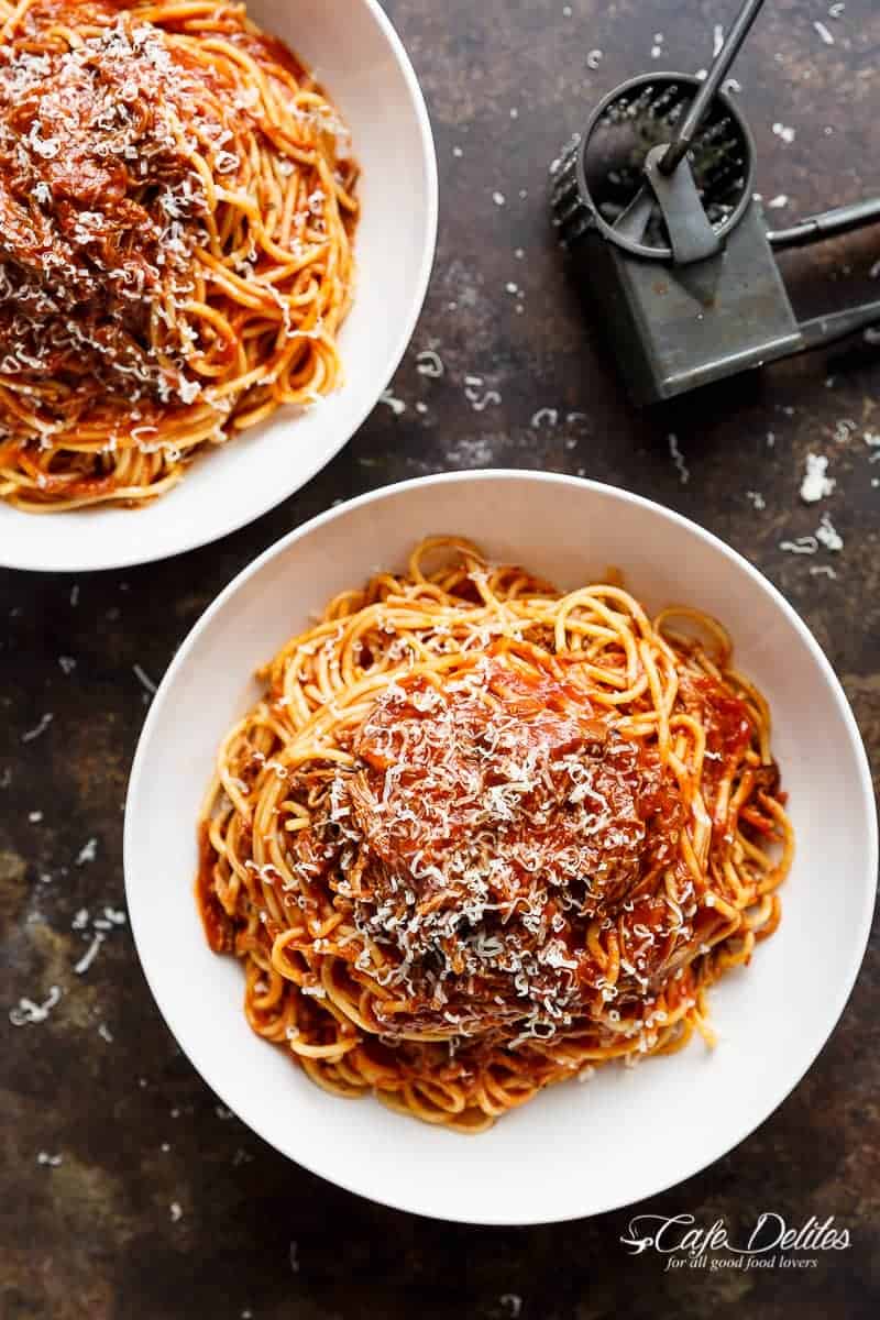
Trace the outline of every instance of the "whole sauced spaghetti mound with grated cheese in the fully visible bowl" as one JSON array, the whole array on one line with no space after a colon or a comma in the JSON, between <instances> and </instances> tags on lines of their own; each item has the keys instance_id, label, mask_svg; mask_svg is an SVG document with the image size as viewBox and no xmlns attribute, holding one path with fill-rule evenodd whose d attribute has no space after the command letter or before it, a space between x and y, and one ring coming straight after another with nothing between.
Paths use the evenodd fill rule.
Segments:
<instances>
[{"instance_id":1,"label":"whole sauced spaghetti mound with grated cheese in the fully visible bowl","mask_svg":"<svg viewBox=\"0 0 880 1320\"><path fill-rule=\"evenodd\" d=\"M476 1131L608 1060L712 1040L793 837L719 623L562 595L437 537L260 672L201 826L211 946L327 1090Z\"/></svg>"}]
</instances>

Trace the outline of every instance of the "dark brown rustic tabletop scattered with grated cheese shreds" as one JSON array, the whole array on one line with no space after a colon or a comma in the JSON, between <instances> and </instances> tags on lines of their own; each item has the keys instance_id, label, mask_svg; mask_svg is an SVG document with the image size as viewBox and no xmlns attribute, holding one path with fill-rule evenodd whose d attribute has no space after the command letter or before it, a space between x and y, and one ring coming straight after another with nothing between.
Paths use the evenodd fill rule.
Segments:
<instances>
[{"instance_id":1,"label":"dark brown rustic tabletop scattered with grated cheese shreds","mask_svg":"<svg viewBox=\"0 0 880 1320\"><path fill-rule=\"evenodd\" d=\"M377 407L303 491L218 545L125 573L0 578L4 1022L22 995L65 991L45 1022L7 1022L0 1311L9 1320L877 1315L876 946L794 1094L730 1156L640 1208L703 1224L724 1216L734 1233L761 1209L792 1224L836 1216L850 1250L797 1274L665 1272L653 1251L624 1253L627 1210L489 1230L358 1200L218 1107L162 1024L125 925L108 920L91 966L74 970L95 917L124 907L123 799L149 681L255 554L332 502L400 478L493 465L578 473L711 528L813 628L880 770L880 463L871 465L880 449L865 441L880 432L879 350L850 345L633 412L548 227L548 164L587 108L652 65L705 65L714 24L734 9L735 0L393 0L430 104L442 186L434 277L392 391L405 409ZM587 62L590 51L600 55ZM736 75L774 216L877 190L879 51L875 0L768 4ZM879 257L873 232L785 267L798 306L815 312L877 296ZM442 379L417 371L425 348L441 355ZM821 506L798 496L807 453L827 455L836 482ZM843 549L781 549L813 533L822 512ZM80 908L87 931L77 929Z\"/></svg>"}]
</instances>

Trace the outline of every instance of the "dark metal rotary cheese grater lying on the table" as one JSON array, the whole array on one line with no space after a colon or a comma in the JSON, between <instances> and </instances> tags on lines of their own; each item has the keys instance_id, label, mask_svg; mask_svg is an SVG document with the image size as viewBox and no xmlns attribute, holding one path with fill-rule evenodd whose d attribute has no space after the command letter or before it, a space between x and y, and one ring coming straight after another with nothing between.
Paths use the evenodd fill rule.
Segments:
<instances>
[{"instance_id":1,"label":"dark metal rotary cheese grater lying on the table","mask_svg":"<svg viewBox=\"0 0 880 1320\"><path fill-rule=\"evenodd\" d=\"M722 90L763 0L745 0L705 79L615 87L553 166L554 224L648 404L880 322L880 301L798 322L774 253L880 219L880 198L768 230L755 141Z\"/></svg>"}]
</instances>

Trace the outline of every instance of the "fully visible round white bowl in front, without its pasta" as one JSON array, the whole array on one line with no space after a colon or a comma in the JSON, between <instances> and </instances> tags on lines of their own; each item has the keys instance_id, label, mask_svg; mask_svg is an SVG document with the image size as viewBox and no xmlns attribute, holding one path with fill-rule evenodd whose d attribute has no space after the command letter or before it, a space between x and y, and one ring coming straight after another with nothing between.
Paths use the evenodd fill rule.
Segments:
<instances>
[{"instance_id":1,"label":"fully visible round white bowl in front, without its pasta","mask_svg":"<svg viewBox=\"0 0 880 1320\"><path fill-rule=\"evenodd\" d=\"M248 675L309 614L429 533L472 537L561 587L620 566L649 609L687 602L732 631L770 701L797 858L782 923L711 991L714 1052L608 1067L464 1138L325 1094L243 1014L237 964L212 954L193 898L195 821L219 739L257 698ZM472 1224L537 1224L650 1196L719 1159L785 1098L827 1040L864 953L877 832L856 725L819 647L722 541L625 491L516 471L387 487L267 550L206 611L153 701L135 758L125 880L137 949L179 1044L224 1104L284 1155L376 1201ZM710 1118L707 1118L710 1115ZM773 1170L767 1171L772 1180Z\"/></svg>"}]
</instances>

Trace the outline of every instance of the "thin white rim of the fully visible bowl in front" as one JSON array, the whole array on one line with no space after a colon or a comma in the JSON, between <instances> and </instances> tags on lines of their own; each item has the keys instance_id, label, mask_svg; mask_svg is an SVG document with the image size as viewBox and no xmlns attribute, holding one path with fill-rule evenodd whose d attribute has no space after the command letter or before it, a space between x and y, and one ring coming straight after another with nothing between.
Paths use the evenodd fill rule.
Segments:
<instances>
[{"instance_id":1,"label":"thin white rim of the fully visible bowl in front","mask_svg":"<svg viewBox=\"0 0 880 1320\"><path fill-rule=\"evenodd\" d=\"M220 1082L220 1085L216 1085L215 1068L210 1052L203 1052L198 1041L195 1041L194 1048L190 1048L193 1045L193 1041L187 1039L187 1043L183 1044L183 1039L181 1038L181 1035L178 1035L174 1027L174 1022L177 1018L175 1006L173 1002L169 1001L169 998L165 995L164 991L158 990L156 985L156 981L158 978L150 973L150 966L148 965L148 962L142 956L137 936L137 928L139 928L137 912L140 909L141 898L132 878L136 867L133 858L136 825L135 825L135 816L132 812L132 804L136 803L140 796L141 777L144 775L145 764L149 755L149 744L153 739L153 729L158 723L161 709L175 684L177 673L186 661L189 652L195 644L195 642L208 628L208 626L214 622L214 619L226 609L227 603L243 587L247 586L248 581L253 578L264 568L264 565L285 554L293 545L296 545L298 541L306 540L318 528L325 527L327 523L332 523L338 519L346 517L347 513L350 513L355 508L361 508L367 504L379 503L384 499L405 494L406 491L413 490L416 487L462 484L467 482L480 483L480 482L513 482L513 480L529 480L542 484L570 486L582 488L584 491L592 491L594 494L598 494L603 498L610 496L612 499L617 499L624 504L635 504L637 508L641 508L645 512L660 515L661 517L665 517L669 521L677 524L683 531L697 535L707 546L720 552L727 560L732 561L738 568L745 570L747 576L755 582L759 590L763 590L767 595L769 595L772 603L782 612L786 620L794 627L802 643L805 644L811 657L817 661L819 667L825 684L834 697L834 704L838 715L842 719L842 723L846 729L846 733L848 735L852 747L854 760L858 767L862 807L864 809L864 816L868 822L868 833L867 838L864 840L864 869L863 874L859 875L858 878L859 888L862 892L862 912L855 941L858 957L852 960L852 966L848 974L843 978L836 998L831 1002L831 1007L829 1011L829 1026L823 1034L823 1039L818 1043L814 1052L809 1057L807 1063L797 1073L797 1076L793 1076L790 1080L786 1080L782 1084L782 1086L777 1088L777 1090L769 1097L767 1111L757 1123L752 1122L751 1119L747 1119L741 1129L735 1130L735 1134L732 1137L724 1135L722 1142L722 1148L716 1150L707 1159L705 1159L701 1155L693 1164L690 1163L682 1164L682 1168L677 1172L674 1179L672 1180L664 1179L661 1185L653 1188L652 1192L648 1192L645 1193L644 1197L641 1197L641 1200L644 1200L646 1196L660 1196L662 1192L666 1192L670 1188L677 1187L679 1183L702 1172L703 1170L715 1164L724 1155L734 1151L743 1140L751 1137L753 1131L756 1131L763 1123L765 1123L768 1118L770 1118L770 1115L778 1109L782 1101L786 1100L786 1097L792 1094L796 1086L802 1081L802 1078L806 1076L809 1069L813 1067L813 1064L815 1063L815 1060L818 1059L818 1056L831 1039L831 1035L836 1030L843 1010L846 1008L850 997L852 994L852 989L855 986L856 978L864 962L864 954L867 950L868 937L871 933L876 892L877 892L877 865L879 865L877 804L873 793L871 767L864 748L864 743L862 741L862 734L855 721L855 715L852 714L848 698L843 690L843 686L840 685L836 673L831 667L831 663L822 651L819 643L810 632L806 623L798 615L797 610L785 599L782 593L769 581L769 578L767 578L760 572L760 569L755 568L753 564L749 564L749 561L743 554L740 554L739 550L735 550L731 545L727 545L727 543L723 541L719 536L715 536L714 532L707 531L706 528L701 527L691 519L685 517L682 513L677 513L674 510L666 508L664 504L660 504L656 500L646 499L643 495L637 495L619 486L611 486L606 482L596 482L579 477L569 477L562 473L530 471L528 469L515 469L515 467L476 469L476 470L456 471L456 473L437 473L429 477L417 477L409 480L394 482L388 486L381 486L373 491L367 491L363 495L355 496L354 499L346 500L342 504L326 510L323 513L318 513L315 517L309 519L301 527L294 528L292 532L288 532L273 545L268 546L251 564L245 565L239 573L236 573L232 581L228 582L226 587L223 587L223 590L215 597L215 599L206 607L202 615L193 624L191 630L178 647L169 668L162 676L156 696L153 697L153 701L150 704L150 709L146 714L146 719L144 721L144 726L141 729L141 734L137 742L137 748L135 751L132 770L128 780L128 789L125 795L123 866L124 866L124 879L125 879L125 899L129 912L129 924L144 977L153 995L156 1006L162 1019L165 1020L165 1024L174 1036L175 1041L179 1044L186 1057L189 1059L190 1064L201 1074L202 1080L211 1088L211 1090L214 1090L214 1093L224 1104L228 1105L228 1097L224 1094L226 1090L224 1084ZM218 737L220 735L222 730L218 731ZM235 1105L231 1105L230 1107L232 1107L237 1113ZM342 1187L344 1191L352 1192L358 1196L363 1196L364 1199L373 1201L376 1204L387 1205L392 1209L405 1210L412 1214L418 1214L424 1218L435 1218L435 1220L442 1220L445 1222L460 1222L460 1224L474 1224L474 1225L497 1226L497 1228L526 1226L537 1224L562 1224L578 1218L591 1218L596 1214L604 1214L615 1209L621 1209L627 1204L637 1204L635 1201L619 1203L612 1199L607 1204L602 1204L587 1212L578 1212L578 1213L571 1213L571 1212L563 1212L561 1214L541 1213L538 1217L528 1217L528 1218L524 1218L521 1212L515 1212L513 1214L507 1214L507 1216L480 1214L478 1217L474 1217L472 1214L471 1216L462 1214L456 1216L453 1220L449 1216L433 1212L431 1209L425 1209L418 1204L417 1196L409 1196L406 1199L400 1196L391 1196L387 1199L380 1193L377 1195L376 1189L369 1184L369 1180L361 1179L359 1176L358 1168L352 1168L351 1175L347 1175L344 1179L338 1177L336 1175L334 1175L332 1177L327 1177L327 1175L321 1168L319 1159L314 1159L309 1150L306 1150L302 1154L297 1152L297 1155L293 1156L288 1154L288 1151L284 1151L278 1147L276 1137L270 1131L268 1131L263 1125L260 1126L253 1125L251 1119L247 1118L244 1114L239 1114L239 1117L241 1122L244 1122L245 1126L251 1129L251 1131L256 1133L257 1137L260 1137L269 1146L272 1146L273 1150L278 1151L280 1155L284 1155L285 1159L290 1159L293 1163L301 1166L309 1172L315 1173L318 1177L323 1177L327 1181L331 1181L334 1185Z\"/></svg>"}]
</instances>

